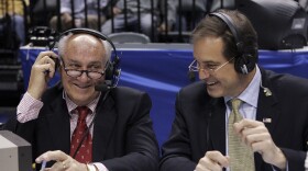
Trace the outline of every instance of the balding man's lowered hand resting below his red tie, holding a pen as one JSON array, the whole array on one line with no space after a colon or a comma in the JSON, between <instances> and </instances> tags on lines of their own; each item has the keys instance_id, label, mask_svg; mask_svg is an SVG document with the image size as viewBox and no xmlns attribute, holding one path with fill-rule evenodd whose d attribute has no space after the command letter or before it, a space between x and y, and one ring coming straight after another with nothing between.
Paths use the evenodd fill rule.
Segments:
<instances>
[{"instance_id":1,"label":"balding man's lowered hand resting below his red tie, holding a pen","mask_svg":"<svg viewBox=\"0 0 308 171\"><path fill-rule=\"evenodd\" d=\"M47 151L35 159L36 163L41 163L43 161L57 161L52 168L47 168L48 171L87 171L87 166L85 163L80 163L73 159L70 156L64 153L63 151Z\"/></svg>"}]
</instances>

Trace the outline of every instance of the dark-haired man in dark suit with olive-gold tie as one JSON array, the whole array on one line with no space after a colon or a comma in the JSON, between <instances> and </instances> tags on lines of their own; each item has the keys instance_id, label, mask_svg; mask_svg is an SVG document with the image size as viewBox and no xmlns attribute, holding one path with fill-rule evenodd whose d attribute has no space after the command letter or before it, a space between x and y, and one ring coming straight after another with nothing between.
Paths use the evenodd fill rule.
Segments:
<instances>
[{"instance_id":1,"label":"dark-haired man in dark suit with olive-gold tie","mask_svg":"<svg viewBox=\"0 0 308 171\"><path fill-rule=\"evenodd\" d=\"M241 140L237 146L251 150L252 170L304 170L308 80L260 68L256 33L239 11L208 14L195 29L193 43L189 70L200 81L177 94L161 171L248 171L246 162L237 162L230 152L231 134ZM242 102L238 113L243 118L230 127L235 107L229 101L235 99Z\"/></svg>"}]
</instances>

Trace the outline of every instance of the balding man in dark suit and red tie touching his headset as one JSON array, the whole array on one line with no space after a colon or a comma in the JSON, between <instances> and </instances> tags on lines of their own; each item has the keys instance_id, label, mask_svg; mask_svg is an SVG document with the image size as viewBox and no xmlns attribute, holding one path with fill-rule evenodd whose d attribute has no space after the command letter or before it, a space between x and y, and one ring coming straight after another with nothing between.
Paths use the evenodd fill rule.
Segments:
<instances>
[{"instance_id":1,"label":"balding man in dark suit and red tie touching his headset","mask_svg":"<svg viewBox=\"0 0 308 171\"><path fill-rule=\"evenodd\" d=\"M42 52L37 56L13 130L32 144L33 160L51 161L47 168L52 170L155 171L158 145L150 117L151 99L144 92L116 87L119 66L111 58L116 48L103 39L91 30L72 30L59 39L59 55ZM56 59L61 82L47 89ZM88 114L86 129L78 132L82 137L73 147L75 128L82 123L84 112ZM12 128L12 123L7 127Z\"/></svg>"}]
</instances>

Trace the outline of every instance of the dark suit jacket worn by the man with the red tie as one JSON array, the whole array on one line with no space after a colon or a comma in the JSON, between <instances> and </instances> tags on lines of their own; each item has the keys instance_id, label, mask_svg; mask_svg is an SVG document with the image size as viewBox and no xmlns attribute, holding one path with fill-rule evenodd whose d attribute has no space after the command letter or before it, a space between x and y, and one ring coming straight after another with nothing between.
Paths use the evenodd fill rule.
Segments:
<instances>
[{"instance_id":1,"label":"dark suit jacket worn by the man with the red tie","mask_svg":"<svg viewBox=\"0 0 308 171\"><path fill-rule=\"evenodd\" d=\"M150 96L119 87L111 89L105 101L101 99L94 124L94 161L102 162L110 171L157 170L158 145L150 118ZM33 159L48 150L69 153L69 115L63 88L47 90L42 101L38 118L16 122L14 132L32 144ZM7 127L12 128L11 125Z\"/></svg>"}]
</instances>

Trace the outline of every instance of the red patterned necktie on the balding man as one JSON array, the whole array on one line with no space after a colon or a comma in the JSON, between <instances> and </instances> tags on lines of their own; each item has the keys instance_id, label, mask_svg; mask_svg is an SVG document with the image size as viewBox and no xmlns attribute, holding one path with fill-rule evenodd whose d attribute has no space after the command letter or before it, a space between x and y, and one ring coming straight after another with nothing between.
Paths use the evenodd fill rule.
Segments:
<instances>
[{"instance_id":1,"label":"red patterned necktie on the balding man","mask_svg":"<svg viewBox=\"0 0 308 171\"><path fill-rule=\"evenodd\" d=\"M77 111L79 116L77 121L77 126L72 136L70 156L74 157L75 151L78 150L75 156L75 159L79 162L88 163L92 161L92 138L90 133L88 133L87 136L85 137L80 148L79 149L77 148L80 145L80 141L82 140L84 134L88 129L86 117L89 113L89 109L87 106L78 106Z\"/></svg>"}]
</instances>

